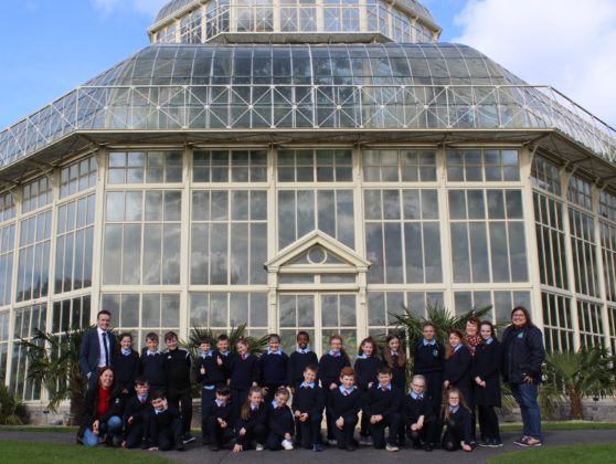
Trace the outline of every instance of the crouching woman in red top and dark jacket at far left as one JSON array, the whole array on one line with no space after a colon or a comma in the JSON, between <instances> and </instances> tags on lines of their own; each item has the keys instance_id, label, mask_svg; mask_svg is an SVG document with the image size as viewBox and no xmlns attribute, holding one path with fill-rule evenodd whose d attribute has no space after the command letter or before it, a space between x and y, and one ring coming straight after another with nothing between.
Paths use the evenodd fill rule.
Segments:
<instances>
[{"instance_id":1,"label":"crouching woman in red top and dark jacket at far left","mask_svg":"<svg viewBox=\"0 0 616 464\"><path fill-rule=\"evenodd\" d=\"M106 368L98 376L96 388L87 390L77 443L96 446L121 442L121 401L114 380L114 370Z\"/></svg>"}]
</instances>

